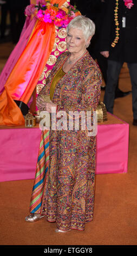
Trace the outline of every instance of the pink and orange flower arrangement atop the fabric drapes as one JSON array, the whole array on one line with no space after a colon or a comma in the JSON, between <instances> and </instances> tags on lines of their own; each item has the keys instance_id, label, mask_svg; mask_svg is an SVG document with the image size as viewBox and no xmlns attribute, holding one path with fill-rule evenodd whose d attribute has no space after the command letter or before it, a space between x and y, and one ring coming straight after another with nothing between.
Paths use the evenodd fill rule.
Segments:
<instances>
[{"instance_id":1,"label":"pink and orange flower arrangement atop the fabric drapes","mask_svg":"<svg viewBox=\"0 0 137 256\"><path fill-rule=\"evenodd\" d=\"M58 4L51 4L50 1L40 0L38 5L30 4L25 9L25 15L35 15L38 20L44 22L54 22L55 26L67 27L70 20L81 15L80 11L73 5L68 8L58 8Z\"/></svg>"}]
</instances>

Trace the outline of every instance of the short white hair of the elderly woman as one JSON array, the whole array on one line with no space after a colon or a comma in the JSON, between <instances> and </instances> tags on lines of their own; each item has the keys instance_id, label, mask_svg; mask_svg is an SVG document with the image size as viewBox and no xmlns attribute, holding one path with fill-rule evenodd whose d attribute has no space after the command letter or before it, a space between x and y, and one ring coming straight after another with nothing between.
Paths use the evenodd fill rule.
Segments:
<instances>
[{"instance_id":1,"label":"short white hair of the elderly woman","mask_svg":"<svg viewBox=\"0 0 137 256\"><path fill-rule=\"evenodd\" d=\"M82 29L86 41L88 40L89 36L93 36L95 34L95 23L82 15L76 16L69 22L67 26L67 33L69 32L70 28Z\"/></svg>"}]
</instances>

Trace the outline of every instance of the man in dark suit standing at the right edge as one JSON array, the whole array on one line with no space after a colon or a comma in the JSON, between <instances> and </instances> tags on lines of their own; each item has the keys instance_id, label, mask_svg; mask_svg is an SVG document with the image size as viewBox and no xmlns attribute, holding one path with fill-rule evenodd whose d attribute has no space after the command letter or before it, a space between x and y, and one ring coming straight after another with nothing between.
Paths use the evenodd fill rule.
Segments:
<instances>
[{"instance_id":1,"label":"man in dark suit standing at the right edge","mask_svg":"<svg viewBox=\"0 0 137 256\"><path fill-rule=\"evenodd\" d=\"M124 62L127 63L132 83L133 125L137 125L137 1L128 9L123 0L119 0L118 22L119 40L115 45L115 7L116 0L108 1L100 38L100 52L108 58L107 84L104 103L107 111L113 113L115 88Z\"/></svg>"}]
</instances>

